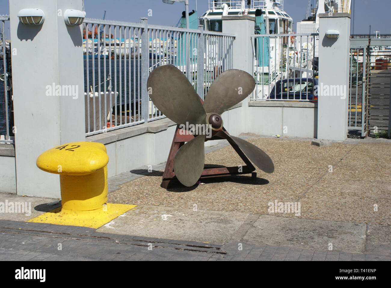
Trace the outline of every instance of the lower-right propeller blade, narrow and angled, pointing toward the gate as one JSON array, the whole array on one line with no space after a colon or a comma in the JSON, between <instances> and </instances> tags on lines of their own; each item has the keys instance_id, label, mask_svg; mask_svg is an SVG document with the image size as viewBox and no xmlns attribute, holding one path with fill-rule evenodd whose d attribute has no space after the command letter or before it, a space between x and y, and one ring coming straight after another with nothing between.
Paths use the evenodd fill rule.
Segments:
<instances>
[{"instance_id":1,"label":"lower-right propeller blade, narrow and angled, pointing toward the gate","mask_svg":"<svg viewBox=\"0 0 391 288\"><path fill-rule=\"evenodd\" d=\"M238 137L228 135L223 131L216 133L216 135L235 142L243 151L243 153L246 154L246 156L256 165L256 167L262 171L266 173L274 172L274 164L269 155L256 147L254 144L251 144L250 142L247 142L246 140L240 139Z\"/></svg>"}]
</instances>

